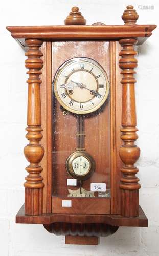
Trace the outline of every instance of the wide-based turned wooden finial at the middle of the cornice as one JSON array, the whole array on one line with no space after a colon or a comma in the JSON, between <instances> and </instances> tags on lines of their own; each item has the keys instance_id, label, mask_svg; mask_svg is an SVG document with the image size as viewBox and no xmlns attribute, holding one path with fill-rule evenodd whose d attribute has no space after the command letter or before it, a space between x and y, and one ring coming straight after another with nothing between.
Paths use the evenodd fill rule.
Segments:
<instances>
[{"instance_id":1,"label":"wide-based turned wooden finial at the middle of the cornice","mask_svg":"<svg viewBox=\"0 0 159 256\"><path fill-rule=\"evenodd\" d=\"M69 13L69 16L66 17L64 20L65 25L85 25L86 20L81 15L81 12L79 12L79 8L77 6L74 6L72 11Z\"/></svg>"}]
</instances>

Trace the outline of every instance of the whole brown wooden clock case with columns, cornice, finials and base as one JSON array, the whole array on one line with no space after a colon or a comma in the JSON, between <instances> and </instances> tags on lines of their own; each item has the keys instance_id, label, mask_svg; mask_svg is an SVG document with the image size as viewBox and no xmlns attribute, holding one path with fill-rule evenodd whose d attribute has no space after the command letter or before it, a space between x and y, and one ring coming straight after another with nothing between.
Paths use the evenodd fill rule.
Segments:
<instances>
[{"instance_id":1,"label":"whole brown wooden clock case with columns, cornice, finials and base","mask_svg":"<svg viewBox=\"0 0 159 256\"><path fill-rule=\"evenodd\" d=\"M65 235L65 243L71 244L98 244L98 237L116 232L119 226L147 227L148 220L139 206L140 184L136 176L139 170L134 166L140 156L140 149L134 144L138 138L134 46L143 44L156 25L137 25L138 17L133 6L127 6L122 16L124 25L86 26L78 8L73 7L64 26L7 27L12 37L27 49L25 66L29 70L26 128L29 144L25 156L30 165L26 167L29 174L24 184L25 205L16 215L16 223L43 224L49 232ZM84 198L80 204L78 198L73 198L69 213L61 208L62 199L52 196L52 65L55 70L58 68L52 47L64 41L65 46L58 52L63 62L70 58L69 43L80 46L82 42L86 46L92 42L96 49L108 42L111 90L111 197L103 201Z\"/></svg>"}]
</instances>

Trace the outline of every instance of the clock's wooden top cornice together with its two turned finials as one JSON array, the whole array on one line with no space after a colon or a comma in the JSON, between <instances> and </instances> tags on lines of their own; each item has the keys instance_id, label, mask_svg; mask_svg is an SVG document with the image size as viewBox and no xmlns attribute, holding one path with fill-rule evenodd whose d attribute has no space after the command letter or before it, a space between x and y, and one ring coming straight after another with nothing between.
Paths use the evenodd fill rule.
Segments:
<instances>
[{"instance_id":1,"label":"clock's wooden top cornice together with its two turned finials","mask_svg":"<svg viewBox=\"0 0 159 256\"><path fill-rule=\"evenodd\" d=\"M94 23L85 25L86 20L79 12L78 7L73 7L69 16L64 20L64 26L13 26L7 27L13 38L25 47L25 39L41 39L43 41L75 41L75 40L120 40L122 38L135 38L137 45L152 34L156 25L137 25L138 13L133 6L126 7L122 15L124 25L105 25Z\"/></svg>"}]
</instances>

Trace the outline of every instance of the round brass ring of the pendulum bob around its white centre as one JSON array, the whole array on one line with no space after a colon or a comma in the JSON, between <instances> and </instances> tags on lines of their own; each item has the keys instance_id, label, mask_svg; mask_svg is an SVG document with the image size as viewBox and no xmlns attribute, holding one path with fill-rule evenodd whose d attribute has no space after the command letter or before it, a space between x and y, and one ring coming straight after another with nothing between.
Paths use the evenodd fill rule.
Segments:
<instances>
[{"instance_id":1,"label":"round brass ring of the pendulum bob around its white centre","mask_svg":"<svg viewBox=\"0 0 159 256\"><path fill-rule=\"evenodd\" d=\"M89 161L89 164L90 164L90 168L89 168L86 175L77 175L77 174L75 174L75 172L73 170L73 167L72 167L73 160L77 157L80 157L80 156L85 157ZM77 179L78 181L79 180L81 180L81 181L82 180L87 180L95 171L95 161L92 158L92 156L90 156L87 152L85 152L85 151L75 151L66 160L66 170L67 170L67 173L72 178Z\"/></svg>"}]
</instances>

